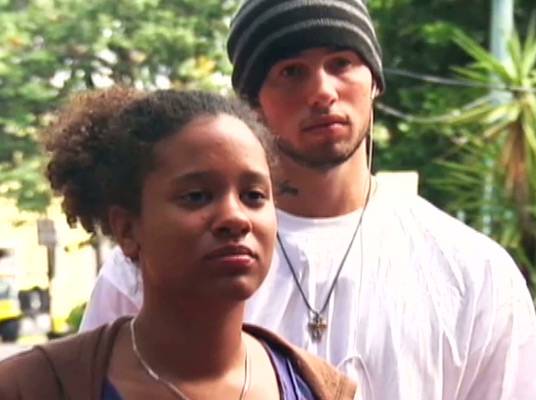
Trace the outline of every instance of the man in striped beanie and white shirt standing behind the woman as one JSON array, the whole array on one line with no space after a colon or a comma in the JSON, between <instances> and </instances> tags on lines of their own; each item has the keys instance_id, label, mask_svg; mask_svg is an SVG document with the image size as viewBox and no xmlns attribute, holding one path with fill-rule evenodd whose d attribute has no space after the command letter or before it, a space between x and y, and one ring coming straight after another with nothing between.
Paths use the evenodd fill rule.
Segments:
<instances>
[{"instance_id":1,"label":"man in striped beanie and white shirt standing behind the woman","mask_svg":"<svg viewBox=\"0 0 536 400\"><path fill-rule=\"evenodd\" d=\"M228 41L235 91L280 149L279 245L252 323L355 378L364 399L535 399L536 317L496 243L370 174L380 47L358 0L250 0ZM134 313L117 251L85 319Z\"/></svg>"}]
</instances>

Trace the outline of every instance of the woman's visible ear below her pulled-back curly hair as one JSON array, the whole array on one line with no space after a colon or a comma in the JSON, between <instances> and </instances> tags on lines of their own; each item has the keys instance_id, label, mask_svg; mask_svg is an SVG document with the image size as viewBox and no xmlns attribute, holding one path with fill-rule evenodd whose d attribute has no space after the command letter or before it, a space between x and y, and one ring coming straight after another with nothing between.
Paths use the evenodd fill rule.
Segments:
<instances>
[{"instance_id":1,"label":"woman's visible ear below her pulled-back curly hair","mask_svg":"<svg viewBox=\"0 0 536 400\"><path fill-rule=\"evenodd\" d=\"M120 206L111 206L108 221L113 237L125 256L132 261L139 258L140 246L136 234L137 217Z\"/></svg>"}]
</instances>

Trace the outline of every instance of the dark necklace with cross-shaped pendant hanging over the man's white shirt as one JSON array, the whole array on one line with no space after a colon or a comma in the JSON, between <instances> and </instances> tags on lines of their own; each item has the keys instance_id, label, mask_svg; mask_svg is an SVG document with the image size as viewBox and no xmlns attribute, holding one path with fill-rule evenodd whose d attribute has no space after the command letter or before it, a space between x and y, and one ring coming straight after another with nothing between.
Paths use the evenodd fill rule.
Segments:
<instances>
[{"instance_id":1,"label":"dark necklace with cross-shaped pendant hanging over the man's white shirt","mask_svg":"<svg viewBox=\"0 0 536 400\"><path fill-rule=\"evenodd\" d=\"M296 286L298 287L298 291L300 292L303 302L305 303L305 306L309 310L310 315L309 315L309 323L307 324L307 328L309 330L309 334L311 335L311 339L314 342L319 342L322 340L322 335L324 334L325 330L328 327L326 319L322 316L322 314L324 313L324 311L326 311L326 308L329 304L329 299L331 298L331 295L333 294L333 291L335 290L337 280L339 279L339 275L341 274L342 267L344 266L344 263L346 262L346 258L348 258L348 254L350 253L350 249L352 248L352 245L354 244L354 240L357 236L357 232L359 231L359 227L361 226L361 223L363 222L365 209L367 208L367 205L370 199L371 187L372 187L372 181L369 176L367 195L365 197L365 204L363 205L363 210L361 211L361 214L359 215L359 220L357 221L357 225L354 229L354 232L352 233L350 243L348 244L348 247L346 248L346 251L344 252L344 256L342 257L342 260L339 266L337 267L335 277L333 278L333 282L331 282L331 286L329 287L324 303L322 303L322 307L320 307L320 309L318 310L311 305L311 303L309 302L309 299L305 295L305 292L300 284L300 280L298 279L298 274L296 273L296 269L294 268L294 265L292 265L292 262L290 261L290 257L287 254L285 246L283 246L281 235L279 235L279 232L277 232L277 242L279 243L279 247L281 247L281 252L283 253L283 257L285 258L285 261L287 262L290 272L292 273L292 278L294 279L294 283L296 283ZM363 249L361 249L361 252L363 252ZM361 268L363 268L363 265L361 265Z\"/></svg>"}]
</instances>

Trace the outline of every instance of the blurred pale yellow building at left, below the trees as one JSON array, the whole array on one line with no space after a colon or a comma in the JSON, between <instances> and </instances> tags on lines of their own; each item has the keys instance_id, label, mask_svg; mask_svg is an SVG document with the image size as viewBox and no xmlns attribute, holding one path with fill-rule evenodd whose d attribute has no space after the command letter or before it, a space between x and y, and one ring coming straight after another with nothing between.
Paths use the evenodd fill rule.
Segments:
<instances>
[{"instance_id":1,"label":"blurred pale yellow building at left, below the trees","mask_svg":"<svg viewBox=\"0 0 536 400\"><path fill-rule=\"evenodd\" d=\"M47 222L54 237L43 237L50 232L38 232L39 221ZM46 215L22 212L13 202L0 198L0 249L9 254L5 260L4 273L16 276L17 288L23 294L50 293L50 303L40 306L50 308L57 330L70 311L87 301L95 282L99 257L105 256L109 244L97 248L91 245L90 235L82 228L72 229L65 220L59 204L53 204ZM43 224L39 224L42 228ZM53 239L54 246L43 245L43 240ZM40 242L42 244L40 244ZM49 264L53 263L53 276L49 281ZM9 271L7 271L9 269ZM46 298L44 302L46 303ZM43 298L41 298L43 302ZM28 307L31 305L23 304Z\"/></svg>"}]
</instances>

